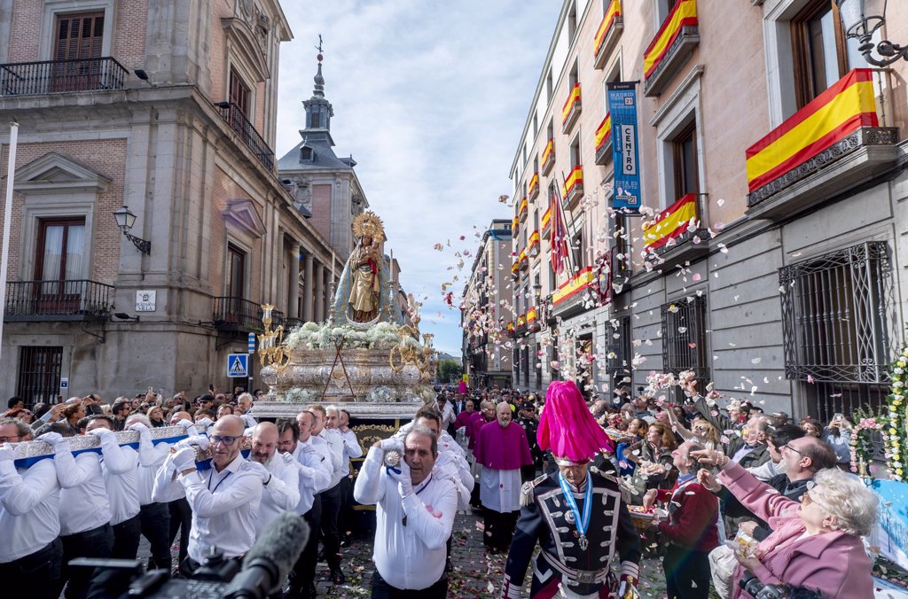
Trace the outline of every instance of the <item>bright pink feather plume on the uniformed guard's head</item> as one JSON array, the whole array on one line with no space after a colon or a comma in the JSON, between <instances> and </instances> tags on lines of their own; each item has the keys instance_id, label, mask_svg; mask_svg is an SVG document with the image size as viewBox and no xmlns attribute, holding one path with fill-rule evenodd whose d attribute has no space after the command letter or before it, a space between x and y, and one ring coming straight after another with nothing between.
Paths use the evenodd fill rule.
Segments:
<instances>
[{"instance_id":1,"label":"bright pink feather plume on the uniformed guard's head","mask_svg":"<svg viewBox=\"0 0 908 599\"><path fill-rule=\"evenodd\" d=\"M539 448L551 450L562 465L584 464L603 449L615 448L572 381L554 381L548 386L536 438Z\"/></svg>"}]
</instances>

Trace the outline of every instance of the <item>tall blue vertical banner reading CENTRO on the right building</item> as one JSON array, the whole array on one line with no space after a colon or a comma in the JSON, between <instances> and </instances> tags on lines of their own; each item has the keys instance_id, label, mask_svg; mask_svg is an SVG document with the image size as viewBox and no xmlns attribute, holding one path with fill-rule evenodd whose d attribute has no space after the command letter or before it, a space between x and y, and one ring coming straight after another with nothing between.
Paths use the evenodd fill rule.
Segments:
<instances>
[{"instance_id":1,"label":"tall blue vertical banner reading CENTRO on the right building","mask_svg":"<svg viewBox=\"0 0 908 599\"><path fill-rule=\"evenodd\" d=\"M612 119L612 155L615 164L612 208L634 214L640 211L637 83L608 83L608 113Z\"/></svg>"}]
</instances>

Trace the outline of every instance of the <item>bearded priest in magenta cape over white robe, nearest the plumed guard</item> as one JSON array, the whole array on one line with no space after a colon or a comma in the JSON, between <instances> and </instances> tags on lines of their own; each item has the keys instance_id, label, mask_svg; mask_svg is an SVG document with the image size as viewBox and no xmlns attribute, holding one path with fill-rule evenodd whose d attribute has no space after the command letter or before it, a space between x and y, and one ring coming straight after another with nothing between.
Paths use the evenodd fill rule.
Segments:
<instances>
[{"instance_id":1,"label":"bearded priest in magenta cape over white robe, nearest the plumed guard","mask_svg":"<svg viewBox=\"0 0 908 599\"><path fill-rule=\"evenodd\" d=\"M529 466L527 432L512 425L513 412L507 401L495 408L497 424L479 428L473 456L482 466L479 499L485 508L483 543L489 553L507 551L520 514L520 466Z\"/></svg>"}]
</instances>

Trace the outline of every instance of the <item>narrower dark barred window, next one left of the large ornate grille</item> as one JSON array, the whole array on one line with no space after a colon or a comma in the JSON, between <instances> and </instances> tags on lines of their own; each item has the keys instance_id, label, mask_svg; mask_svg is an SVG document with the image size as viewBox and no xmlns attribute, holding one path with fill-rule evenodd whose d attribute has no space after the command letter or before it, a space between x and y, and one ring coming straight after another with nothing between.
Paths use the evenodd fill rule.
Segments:
<instances>
[{"instance_id":1,"label":"narrower dark barred window, next one left of the large ornate grille","mask_svg":"<svg viewBox=\"0 0 908 599\"><path fill-rule=\"evenodd\" d=\"M662 306L662 365L665 372L693 370L697 388L709 382L706 352L706 298L678 300Z\"/></svg>"}]
</instances>

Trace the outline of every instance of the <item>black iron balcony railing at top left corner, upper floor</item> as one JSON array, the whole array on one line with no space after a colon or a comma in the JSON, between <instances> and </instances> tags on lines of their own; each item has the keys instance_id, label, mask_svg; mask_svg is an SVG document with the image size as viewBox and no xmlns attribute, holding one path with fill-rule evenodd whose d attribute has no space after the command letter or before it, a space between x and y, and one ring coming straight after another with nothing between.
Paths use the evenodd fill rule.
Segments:
<instances>
[{"instance_id":1,"label":"black iron balcony railing at top left corner, upper floor","mask_svg":"<svg viewBox=\"0 0 908 599\"><path fill-rule=\"evenodd\" d=\"M0 96L122 90L126 74L110 56L0 64Z\"/></svg>"}]
</instances>

